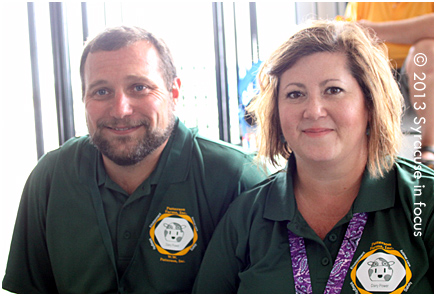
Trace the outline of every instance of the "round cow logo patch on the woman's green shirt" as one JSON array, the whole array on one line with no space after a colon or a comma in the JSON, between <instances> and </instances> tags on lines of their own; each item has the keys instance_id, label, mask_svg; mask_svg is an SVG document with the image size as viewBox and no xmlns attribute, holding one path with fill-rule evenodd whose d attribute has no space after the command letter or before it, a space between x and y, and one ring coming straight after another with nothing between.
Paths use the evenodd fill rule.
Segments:
<instances>
[{"instance_id":1,"label":"round cow logo patch on the woman's green shirt","mask_svg":"<svg viewBox=\"0 0 436 296\"><path fill-rule=\"evenodd\" d=\"M412 272L403 251L391 244L372 243L352 266L351 280L360 293L398 294L408 290Z\"/></svg>"}]
</instances>

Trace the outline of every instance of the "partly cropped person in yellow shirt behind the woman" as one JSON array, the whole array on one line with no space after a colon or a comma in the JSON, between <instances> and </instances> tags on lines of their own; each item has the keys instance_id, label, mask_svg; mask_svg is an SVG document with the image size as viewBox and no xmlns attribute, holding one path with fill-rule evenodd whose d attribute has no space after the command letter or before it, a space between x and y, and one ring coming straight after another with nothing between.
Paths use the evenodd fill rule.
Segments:
<instances>
[{"instance_id":1,"label":"partly cropped person in yellow shirt behind the woman","mask_svg":"<svg viewBox=\"0 0 436 296\"><path fill-rule=\"evenodd\" d=\"M434 3L350 2L345 16L386 42L422 132L415 156L434 168Z\"/></svg>"}]
</instances>

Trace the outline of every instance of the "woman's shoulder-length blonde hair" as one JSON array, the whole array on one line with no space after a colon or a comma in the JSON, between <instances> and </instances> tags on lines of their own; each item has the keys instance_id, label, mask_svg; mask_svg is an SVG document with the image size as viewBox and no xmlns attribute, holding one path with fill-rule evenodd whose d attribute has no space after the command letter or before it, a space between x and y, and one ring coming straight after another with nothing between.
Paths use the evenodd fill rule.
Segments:
<instances>
[{"instance_id":1,"label":"woman's shoulder-length blonde hair","mask_svg":"<svg viewBox=\"0 0 436 296\"><path fill-rule=\"evenodd\" d=\"M384 44L356 23L315 21L283 43L265 61L258 79L259 95L248 106L257 123L259 157L274 166L292 153L282 138L278 112L281 75L299 59L314 53L343 53L359 83L369 112L367 168L372 177L389 171L401 145L403 97L394 80Z\"/></svg>"}]
</instances>

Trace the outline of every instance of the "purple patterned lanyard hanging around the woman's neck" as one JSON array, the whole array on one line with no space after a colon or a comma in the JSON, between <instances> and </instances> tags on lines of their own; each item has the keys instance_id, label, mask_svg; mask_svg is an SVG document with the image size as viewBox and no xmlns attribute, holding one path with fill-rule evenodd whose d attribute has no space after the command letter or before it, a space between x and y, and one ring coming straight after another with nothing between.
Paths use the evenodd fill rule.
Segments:
<instances>
[{"instance_id":1,"label":"purple patterned lanyard hanging around the woman's neck","mask_svg":"<svg viewBox=\"0 0 436 296\"><path fill-rule=\"evenodd\" d=\"M327 281L324 294L339 294L341 292L345 276L347 275L351 260L359 245L367 219L367 213L356 213L353 215ZM296 236L290 230L288 230L288 236L295 292L297 294L312 294L312 284L310 282L309 264L307 262L304 239Z\"/></svg>"}]
</instances>

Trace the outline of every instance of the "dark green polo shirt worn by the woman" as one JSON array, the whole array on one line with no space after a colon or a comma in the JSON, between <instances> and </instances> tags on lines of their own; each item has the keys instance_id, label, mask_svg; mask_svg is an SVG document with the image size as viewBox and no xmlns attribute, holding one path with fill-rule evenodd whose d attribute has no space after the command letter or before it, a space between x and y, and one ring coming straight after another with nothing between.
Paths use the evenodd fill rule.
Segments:
<instances>
[{"instance_id":1,"label":"dark green polo shirt worn by the woman","mask_svg":"<svg viewBox=\"0 0 436 296\"><path fill-rule=\"evenodd\" d=\"M313 293L322 294L348 222L360 212L368 213L368 221L342 293L433 292L432 170L398 159L382 179L371 179L365 172L350 212L324 240L297 209L294 172L291 157L288 172L274 175L232 204L209 244L195 292L295 293L290 229L304 238Z\"/></svg>"}]
</instances>

